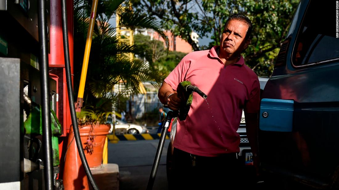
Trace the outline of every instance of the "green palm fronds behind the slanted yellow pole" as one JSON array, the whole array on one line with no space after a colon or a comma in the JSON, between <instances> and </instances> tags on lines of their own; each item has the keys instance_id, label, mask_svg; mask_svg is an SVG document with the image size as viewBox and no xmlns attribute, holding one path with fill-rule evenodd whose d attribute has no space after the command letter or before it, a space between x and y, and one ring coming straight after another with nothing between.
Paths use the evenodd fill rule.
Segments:
<instances>
[{"instance_id":1,"label":"green palm fronds behind the slanted yellow pole","mask_svg":"<svg viewBox=\"0 0 339 190\"><path fill-rule=\"evenodd\" d=\"M74 1L75 92L81 74L91 6L91 0ZM152 66L152 54L145 52L138 45L129 46L120 43L116 36L116 27L108 21L118 14L121 18L119 26L153 29L168 42L162 25L156 19L140 15L131 9L123 8L124 6L126 5L123 0L99 0L98 2L84 92L84 105L95 112L111 111L117 99L138 93L140 82L159 83L164 78ZM143 56L148 63L139 59L131 61L123 53ZM113 86L116 84L119 85L119 91L113 92Z\"/></svg>"}]
</instances>

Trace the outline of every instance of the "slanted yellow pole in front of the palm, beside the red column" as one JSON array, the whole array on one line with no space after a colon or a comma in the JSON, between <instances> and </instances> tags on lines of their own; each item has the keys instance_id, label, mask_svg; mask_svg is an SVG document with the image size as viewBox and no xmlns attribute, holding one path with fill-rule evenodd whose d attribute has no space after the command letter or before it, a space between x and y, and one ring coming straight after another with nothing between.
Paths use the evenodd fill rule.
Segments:
<instances>
[{"instance_id":1,"label":"slanted yellow pole in front of the palm, beside the red column","mask_svg":"<svg viewBox=\"0 0 339 190\"><path fill-rule=\"evenodd\" d=\"M83 96L84 96L89 52L91 51L92 36L93 36L93 29L94 29L94 24L95 24L95 16L96 16L96 13L97 13L97 7L98 7L98 0L93 0L91 16L89 18L89 26L88 26L88 31L87 31L85 53L84 53L84 58L83 58L83 62L82 62L82 70L81 70L78 99L77 99L77 102L79 103L80 108L82 107L82 100L83 100Z\"/></svg>"}]
</instances>

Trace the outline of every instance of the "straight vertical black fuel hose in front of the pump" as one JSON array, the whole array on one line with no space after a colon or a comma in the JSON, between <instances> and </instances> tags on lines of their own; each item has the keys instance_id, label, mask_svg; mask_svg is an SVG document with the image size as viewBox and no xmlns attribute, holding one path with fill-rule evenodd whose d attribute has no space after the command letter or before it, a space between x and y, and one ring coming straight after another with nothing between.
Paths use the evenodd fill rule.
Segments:
<instances>
[{"instance_id":1,"label":"straight vertical black fuel hose in front of the pump","mask_svg":"<svg viewBox=\"0 0 339 190\"><path fill-rule=\"evenodd\" d=\"M44 143L44 179L45 189L54 189L53 160L52 160L52 130L51 130L51 106L49 105L48 83L48 54L47 54L47 29L45 0L38 1L39 17L39 44L40 44L40 86L41 86L41 115Z\"/></svg>"}]
</instances>

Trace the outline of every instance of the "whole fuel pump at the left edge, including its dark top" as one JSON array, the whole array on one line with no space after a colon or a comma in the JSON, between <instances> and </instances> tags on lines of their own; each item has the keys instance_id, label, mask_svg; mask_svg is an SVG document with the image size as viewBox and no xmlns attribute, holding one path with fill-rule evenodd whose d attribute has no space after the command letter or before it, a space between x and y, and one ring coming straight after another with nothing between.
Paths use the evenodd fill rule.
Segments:
<instances>
[{"instance_id":1,"label":"whole fuel pump at the left edge, including its dark top","mask_svg":"<svg viewBox=\"0 0 339 190\"><path fill-rule=\"evenodd\" d=\"M63 110L67 107L62 99L65 96L59 97L63 95L62 73L53 73L56 80L48 73L49 3L60 4L59 1L0 2L3 18L0 20L3 26L0 30L0 142L3 145L0 189L62 189L61 180L57 179L58 148L59 136L66 136L67 117ZM43 11L38 11L41 8Z\"/></svg>"}]
</instances>

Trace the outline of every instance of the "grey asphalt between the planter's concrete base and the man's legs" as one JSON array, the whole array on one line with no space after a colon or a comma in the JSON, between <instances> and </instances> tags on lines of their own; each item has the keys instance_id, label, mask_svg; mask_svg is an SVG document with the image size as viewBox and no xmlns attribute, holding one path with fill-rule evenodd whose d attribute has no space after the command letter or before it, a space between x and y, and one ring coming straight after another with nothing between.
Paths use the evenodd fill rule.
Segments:
<instances>
[{"instance_id":1,"label":"grey asphalt between the planter's concrete base and the man's legs","mask_svg":"<svg viewBox=\"0 0 339 190\"><path fill-rule=\"evenodd\" d=\"M119 141L108 143L108 163L119 165L120 190L145 190L151 174L159 140ZM168 189L165 141L153 189Z\"/></svg>"}]
</instances>

